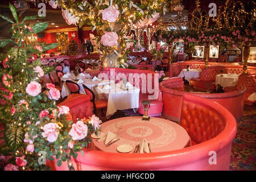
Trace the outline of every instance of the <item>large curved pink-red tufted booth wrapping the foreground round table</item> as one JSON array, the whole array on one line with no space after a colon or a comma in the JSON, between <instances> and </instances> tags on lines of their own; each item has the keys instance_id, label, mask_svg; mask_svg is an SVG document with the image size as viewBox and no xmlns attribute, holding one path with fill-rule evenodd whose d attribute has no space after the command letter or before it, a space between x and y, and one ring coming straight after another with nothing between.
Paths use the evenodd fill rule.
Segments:
<instances>
[{"instance_id":1,"label":"large curved pink-red tufted booth wrapping the foreground round table","mask_svg":"<svg viewBox=\"0 0 256 182\"><path fill-rule=\"evenodd\" d=\"M76 170L228 170L237 130L233 115L216 102L188 94L183 96L181 113L181 126L197 143L191 147L149 154L84 149L83 156L79 153L72 159L73 166ZM216 163L210 159L213 155ZM68 170L67 163L58 167L56 160L47 160L47 165L53 170Z\"/></svg>"}]
</instances>

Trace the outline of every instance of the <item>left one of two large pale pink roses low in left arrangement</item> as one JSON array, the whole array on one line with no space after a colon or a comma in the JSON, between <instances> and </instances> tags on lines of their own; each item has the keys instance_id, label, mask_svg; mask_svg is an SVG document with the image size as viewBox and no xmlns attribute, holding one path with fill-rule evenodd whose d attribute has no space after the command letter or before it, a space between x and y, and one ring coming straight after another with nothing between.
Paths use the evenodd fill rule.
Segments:
<instances>
[{"instance_id":1,"label":"left one of two large pale pink roses low in left arrangement","mask_svg":"<svg viewBox=\"0 0 256 182\"><path fill-rule=\"evenodd\" d=\"M47 137L48 142L55 142L59 135L58 127L59 126L56 123L48 123L47 125L44 125L42 136L44 138Z\"/></svg>"}]
</instances>

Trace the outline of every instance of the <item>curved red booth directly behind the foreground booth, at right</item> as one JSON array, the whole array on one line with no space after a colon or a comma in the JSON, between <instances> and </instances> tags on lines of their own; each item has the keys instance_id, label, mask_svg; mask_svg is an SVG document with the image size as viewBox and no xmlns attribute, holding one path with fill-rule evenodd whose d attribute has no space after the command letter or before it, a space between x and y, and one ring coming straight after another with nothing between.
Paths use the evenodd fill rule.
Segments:
<instances>
[{"instance_id":1,"label":"curved red booth directly behind the foreground booth, at right","mask_svg":"<svg viewBox=\"0 0 256 182\"><path fill-rule=\"evenodd\" d=\"M164 102L163 117L171 119L172 121L180 121L180 108L184 94L200 96L217 102L228 109L237 121L240 121L242 117L245 88L228 93L184 92L184 82L180 77L160 82L159 88L162 91Z\"/></svg>"}]
</instances>

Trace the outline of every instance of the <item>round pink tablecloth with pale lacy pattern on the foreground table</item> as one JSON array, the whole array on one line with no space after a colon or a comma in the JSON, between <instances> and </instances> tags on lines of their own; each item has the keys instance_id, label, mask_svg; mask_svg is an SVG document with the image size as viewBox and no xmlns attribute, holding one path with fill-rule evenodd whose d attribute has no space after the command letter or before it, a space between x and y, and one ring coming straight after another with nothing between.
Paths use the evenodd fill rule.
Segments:
<instances>
[{"instance_id":1,"label":"round pink tablecloth with pale lacy pattern on the foreground table","mask_svg":"<svg viewBox=\"0 0 256 182\"><path fill-rule=\"evenodd\" d=\"M139 144L142 136L140 131L146 128L147 132L143 138L150 143L151 152L164 152L178 150L190 146L190 138L183 127L175 122L162 118L150 118L150 121L142 121L142 117L125 117L113 119L102 123L102 132L112 131L115 133L115 122L123 124L122 129L117 131L121 135L120 140L105 147L104 142L97 142L93 139L92 147L106 152L118 152L117 147L120 144L130 144L134 148Z\"/></svg>"}]
</instances>

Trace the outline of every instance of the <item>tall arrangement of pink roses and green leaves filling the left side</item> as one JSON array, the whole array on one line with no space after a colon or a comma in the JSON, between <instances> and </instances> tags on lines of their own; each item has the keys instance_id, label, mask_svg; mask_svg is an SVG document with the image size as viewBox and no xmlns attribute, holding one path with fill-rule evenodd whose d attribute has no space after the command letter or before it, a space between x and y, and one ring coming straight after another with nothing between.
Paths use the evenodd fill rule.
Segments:
<instances>
[{"instance_id":1,"label":"tall arrangement of pink roses and green leaves filling the left side","mask_svg":"<svg viewBox=\"0 0 256 182\"><path fill-rule=\"evenodd\" d=\"M0 72L0 118L4 126L5 142L0 146L1 168L5 170L46 170L44 163L39 164L39 154L44 152L46 159L57 160L57 165L71 162L77 152L91 142L90 134L101 130L100 119L95 115L73 123L67 106L57 107L55 102L60 92L53 84L40 84L44 75L54 70L42 66L40 59L27 62L28 55L53 49L56 43L44 46L26 44L27 37L47 28L47 22L30 26L26 20L36 16L26 16L19 22L16 9L9 5L14 20L0 15L12 23L11 39L1 39L0 47L13 46L6 53L1 53ZM72 169L72 165L69 165Z\"/></svg>"}]
</instances>

